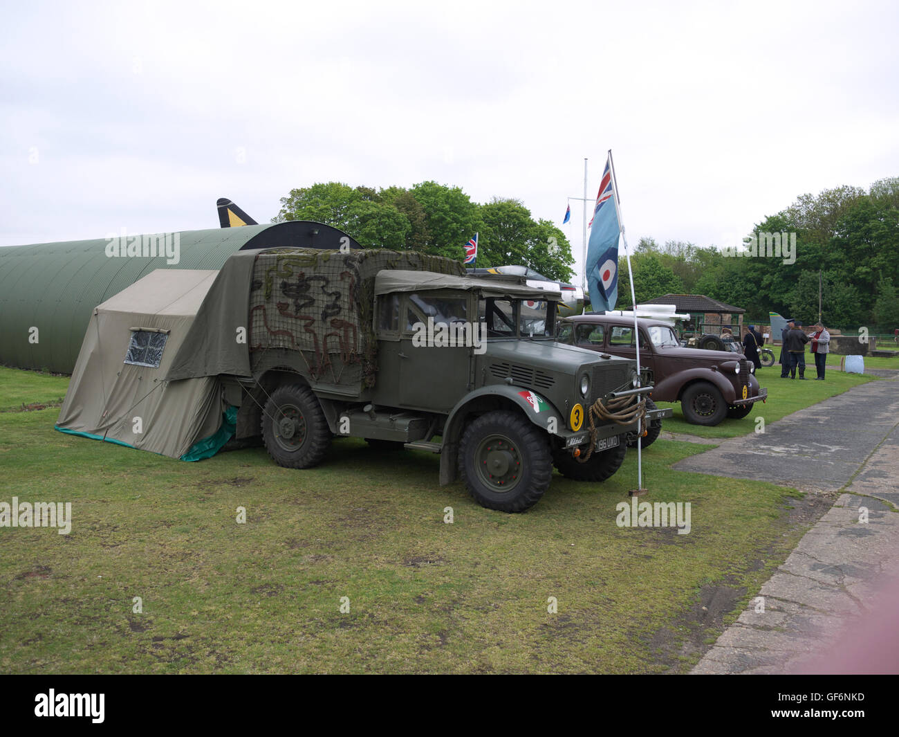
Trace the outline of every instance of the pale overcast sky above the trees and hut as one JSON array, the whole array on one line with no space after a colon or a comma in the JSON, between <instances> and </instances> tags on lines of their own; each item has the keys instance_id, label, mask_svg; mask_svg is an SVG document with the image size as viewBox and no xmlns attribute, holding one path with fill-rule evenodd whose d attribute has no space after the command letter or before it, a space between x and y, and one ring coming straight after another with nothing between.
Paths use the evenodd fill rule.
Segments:
<instances>
[{"instance_id":1,"label":"pale overcast sky above the trees and hut","mask_svg":"<svg viewBox=\"0 0 899 737\"><path fill-rule=\"evenodd\" d=\"M220 196L266 222L332 180L433 179L561 226L609 148L631 246L735 243L801 193L899 175L897 8L6 4L0 244L214 228Z\"/></svg>"}]
</instances>

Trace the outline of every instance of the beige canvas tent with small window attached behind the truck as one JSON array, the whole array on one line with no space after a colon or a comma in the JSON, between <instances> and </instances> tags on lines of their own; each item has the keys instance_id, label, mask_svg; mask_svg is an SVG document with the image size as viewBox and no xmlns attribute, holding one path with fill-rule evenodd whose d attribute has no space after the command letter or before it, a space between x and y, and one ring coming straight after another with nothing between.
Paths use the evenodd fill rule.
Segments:
<instances>
[{"instance_id":1,"label":"beige canvas tent with small window attached behind the truck","mask_svg":"<svg viewBox=\"0 0 899 737\"><path fill-rule=\"evenodd\" d=\"M214 270L156 270L93 310L56 428L199 460L233 434L216 376L167 381L196 349L186 340Z\"/></svg>"}]
</instances>

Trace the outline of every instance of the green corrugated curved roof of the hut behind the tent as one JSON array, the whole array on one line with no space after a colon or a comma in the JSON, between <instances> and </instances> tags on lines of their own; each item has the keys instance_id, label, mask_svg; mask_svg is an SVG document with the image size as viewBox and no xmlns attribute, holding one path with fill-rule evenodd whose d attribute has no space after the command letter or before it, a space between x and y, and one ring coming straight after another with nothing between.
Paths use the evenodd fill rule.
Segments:
<instances>
[{"instance_id":1,"label":"green corrugated curved roof of the hut behind the tent","mask_svg":"<svg viewBox=\"0 0 899 737\"><path fill-rule=\"evenodd\" d=\"M165 255L107 256L109 238L0 247L0 364L71 373L102 301L155 269L218 269L241 247L289 245L291 225L182 230L171 265Z\"/></svg>"}]
</instances>

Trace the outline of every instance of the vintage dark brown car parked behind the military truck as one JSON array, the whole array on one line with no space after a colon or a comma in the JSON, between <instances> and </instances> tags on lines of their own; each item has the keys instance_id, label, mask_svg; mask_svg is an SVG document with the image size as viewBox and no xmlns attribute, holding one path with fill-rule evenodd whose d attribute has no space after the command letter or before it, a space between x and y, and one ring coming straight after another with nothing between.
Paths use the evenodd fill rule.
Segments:
<instances>
[{"instance_id":1,"label":"vintage dark brown car parked behind the military truck","mask_svg":"<svg viewBox=\"0 0 899 737\"><path fill-rule=\"evenodd\" d=\"M680 401L683 416L694 425L714 426L740 419L752 405L768 398L755 367L742 353L681 347L667 323L638 319L640 366L650 374L655 401ZM557 339L608 355L636 358L634 320L603 314L576 315L559 325Z\"/></svg>"}]
</instances>

